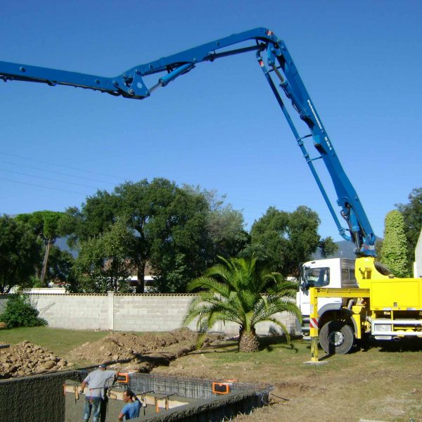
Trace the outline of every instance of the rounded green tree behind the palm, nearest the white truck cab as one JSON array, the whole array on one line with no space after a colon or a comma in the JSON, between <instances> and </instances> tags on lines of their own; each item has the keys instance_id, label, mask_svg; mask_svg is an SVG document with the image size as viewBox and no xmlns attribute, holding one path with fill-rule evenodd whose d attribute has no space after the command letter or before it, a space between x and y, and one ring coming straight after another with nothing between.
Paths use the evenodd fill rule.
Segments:
<instances>
[{"instance_id":1,"label":"rounded green tree behind the palm, nearest the white truck cab","mask_svg":"<svg viewBox=\"0 0 422 422\"><path fill-rule=\"evenodd\" d=\"M318 215L308 207L300 206L294 212L269 207L252 225L251 243L243 256L255 256L264 267L284 276L295 274L300 262L309 260L318 246L326 252L333 250L332 239L321 239L318 226Z\"/></svg>"}]
</instances>

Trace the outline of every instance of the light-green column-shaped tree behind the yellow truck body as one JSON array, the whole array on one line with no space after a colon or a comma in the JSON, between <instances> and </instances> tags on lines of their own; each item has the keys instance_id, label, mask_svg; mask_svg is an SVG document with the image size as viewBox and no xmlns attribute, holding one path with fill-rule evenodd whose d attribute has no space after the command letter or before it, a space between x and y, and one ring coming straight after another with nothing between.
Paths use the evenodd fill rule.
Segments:
<instances>
[{"instance_id":1,"label":"light-green column-shaped tree behind the yellow truck body","mask_svg":"<svg viewBox=\"0 0 422 422\"><path fill-rule=\"evenodd\" d=\"M387 265L395 276L409 276L404 220L398 210L392 210L385 216L384 240L380 261Z\"/></svg>"}]
</instances>

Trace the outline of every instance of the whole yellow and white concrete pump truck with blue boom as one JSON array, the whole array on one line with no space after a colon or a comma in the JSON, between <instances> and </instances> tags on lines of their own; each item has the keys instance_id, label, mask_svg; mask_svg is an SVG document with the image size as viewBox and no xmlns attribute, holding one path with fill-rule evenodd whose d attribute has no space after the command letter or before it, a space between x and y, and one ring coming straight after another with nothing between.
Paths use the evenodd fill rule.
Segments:
<instances>
[{"instance_id":1,"label":"whole yellow and white concrete pump truck with blue boom","mask_svg":"<svg viewBox=\"0 0 422 422\"><path fill-rule=\"evenodd\" d=\"M372 335L379 340L422 338L422 279L397 279L375 261L376 236L366 217L333 143L322 124L286 44L274 32L256 28L217 39L186 51L135 66L117 77L101 77L78 72L41 68L0 61L0 78L7 81L41 82L50 86L68 85L113 96L143 99L155 89L166 87L201 62L255 51L257 63L293 131L302 155L328 205L328 210L345 240L353 242L357 259L318 260L302 264L298 306L311 335L328 353L349 352L355 341ZM144 79L153 77L147 87ZM156 79L155 79L156 78ZM283 98L291 101L309 132L300 136ZM316 156L309 155L305 143L312 139ZM333 181L345 220L345 228L314 167L321 159ZM306 328L304 327L304 330ZM316 334L315 334L316 333Z\"/></svg>"}]
</instances>

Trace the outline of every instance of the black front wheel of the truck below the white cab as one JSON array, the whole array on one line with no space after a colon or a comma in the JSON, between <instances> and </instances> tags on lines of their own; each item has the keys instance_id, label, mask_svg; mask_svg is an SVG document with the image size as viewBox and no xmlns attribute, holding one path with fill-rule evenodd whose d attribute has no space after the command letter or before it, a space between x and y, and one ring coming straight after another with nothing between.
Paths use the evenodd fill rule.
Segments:
<instances>
[{"instance_id":1,"label":"black front wheel of the truck below the white cab","mask_svg":"<svg viewBox=\"0 0 422 422\"><path fill-rule=\"evenodd\" d=\"M328 354L346 354L354 344L352 327L342 321L328 321L319 331L319 344Z\"/></svg>"}]
</instances>

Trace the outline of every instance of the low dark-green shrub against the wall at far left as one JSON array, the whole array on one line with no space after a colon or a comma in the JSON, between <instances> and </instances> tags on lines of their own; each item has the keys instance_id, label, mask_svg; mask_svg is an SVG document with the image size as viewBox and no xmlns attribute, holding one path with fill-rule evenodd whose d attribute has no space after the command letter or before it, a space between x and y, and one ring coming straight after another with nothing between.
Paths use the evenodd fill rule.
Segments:
<instances>
[{"instance_id":1,"label":"low dark-green shrub against the wall at far left","mask_svg":"<svg viewBox=\"0 0 422 422\"><path fill-rule=\"evenodd\" d=\"M30 299L25 295L9 295L6 308L0 315L0 321L13 327L45 326L47 321L39 318L39 312L34 308Z\"/></svg>"}]
</instances>

